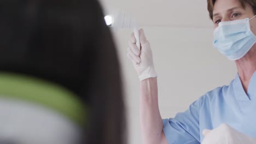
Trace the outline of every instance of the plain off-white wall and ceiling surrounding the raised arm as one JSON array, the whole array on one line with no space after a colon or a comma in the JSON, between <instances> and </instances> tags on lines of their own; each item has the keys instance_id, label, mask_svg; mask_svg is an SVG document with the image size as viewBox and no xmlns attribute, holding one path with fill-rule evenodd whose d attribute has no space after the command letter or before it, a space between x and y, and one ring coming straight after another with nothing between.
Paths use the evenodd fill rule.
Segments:
<instances>
[{"instance_id":1,"label":"plain off-white wall and ceiling surrounding the raised arm","mask_svg":"<svg viewBox=\"0 0 256 144\"><path fill-rule=\"evenodd\" d=\"M158 73L162 118L174 117L196 99L235 78L234 62L213 48L206 2L101 1L105 11L124 9L137 15L153 50ZM139 3L139 8L134 3ZM147 5L148 3L148 5ZM188 5L185 3L189 3ZM143 8L142 8L143 6ZM147 7L146 7L147 6ZM174 9L174 10L173 10ZM107 12L105 12L107 13ZM157 17L159 15L159 17ZM155 20L150 16L157 17ZM166 18L167 17L167 18ZM139 130L139 80L126 57L130 30L113 32L123 71L129 143L141 143Z\"/></svg>"}]
</instances>

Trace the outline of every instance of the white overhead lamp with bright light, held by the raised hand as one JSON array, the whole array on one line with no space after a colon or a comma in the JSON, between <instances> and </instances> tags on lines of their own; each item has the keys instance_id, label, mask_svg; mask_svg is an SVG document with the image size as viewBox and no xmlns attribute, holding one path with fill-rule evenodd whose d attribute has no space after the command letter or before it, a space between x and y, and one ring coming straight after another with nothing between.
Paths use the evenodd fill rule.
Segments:
<instances>
[{"instance_id":1,"label":"white overhead lamp with bright light, held by the raised hand","mask_svg":"<svg viewBox=\"0 0 256 144\"><path fill-rule=\"evenodd\" d=\"M118 11L118 13L115 13L114 15L105 16L104 19L106 21L107 26L112 27L115 30L124 29L124 28L133 29L133 32L136 38L136 45L138 49L141 50L138 26L135 19L131 17L130 14Z\"/></svg>"}]
</instances>

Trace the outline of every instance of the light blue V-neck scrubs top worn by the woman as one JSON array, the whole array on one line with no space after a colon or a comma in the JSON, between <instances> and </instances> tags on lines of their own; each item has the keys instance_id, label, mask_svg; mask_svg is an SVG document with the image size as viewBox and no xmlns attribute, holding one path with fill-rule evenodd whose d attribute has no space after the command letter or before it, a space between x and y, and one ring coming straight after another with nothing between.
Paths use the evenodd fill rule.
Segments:
<instances>
[{"instance_id":1,"label":"light blue V-neck scrubs top worn by the woman","mask_svg":"<svg viewBox=\"0 0 256 144\"><path fill-rule=\"evenodd\" d=\"M243 90L238 74L229 86L213 89L196 100L185 112L163 119L168 143L200 143L203 129L214 129L222 123L251 137L256 137L256 71Z\"/></svg>"}]
</instances>

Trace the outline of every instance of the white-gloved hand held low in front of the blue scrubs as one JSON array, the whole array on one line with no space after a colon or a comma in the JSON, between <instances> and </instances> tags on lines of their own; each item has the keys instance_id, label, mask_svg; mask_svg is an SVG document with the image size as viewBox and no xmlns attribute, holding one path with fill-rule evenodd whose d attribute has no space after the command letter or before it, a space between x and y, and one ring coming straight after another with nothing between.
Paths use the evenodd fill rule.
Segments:
<instances>
[{"instance_id":1,"label":"white-gloved hand held low in front of the blue scrubs","mask_svg":"<svg viewBox=\"0 0 256 144\"><path fill-rule=\"evenodd\" d=\"M213 130L203 130L202 144L251 144L256 143L256 139L236 131L228 124L221 124Z\"/></svg>"}]
</instances>

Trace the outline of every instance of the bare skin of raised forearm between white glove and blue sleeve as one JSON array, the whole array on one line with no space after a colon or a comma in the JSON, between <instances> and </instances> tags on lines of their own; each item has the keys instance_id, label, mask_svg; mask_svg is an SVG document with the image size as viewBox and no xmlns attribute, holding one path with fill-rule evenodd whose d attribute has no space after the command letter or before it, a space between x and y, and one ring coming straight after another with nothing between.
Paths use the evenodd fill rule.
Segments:
<instances>
[{"instance_id":1,"label":"bare skin of raised forearm between white glove and blue sleeve","mask_svg":"<svg viewBox=\"0 0 256 144\"><path fill-rule=\"evenodd\" d=\"M143 143L162 143L165 137L158 106L156 77L141 81L140 117Z\"/></svg>"}]
</instances>

